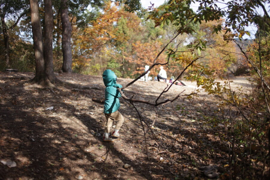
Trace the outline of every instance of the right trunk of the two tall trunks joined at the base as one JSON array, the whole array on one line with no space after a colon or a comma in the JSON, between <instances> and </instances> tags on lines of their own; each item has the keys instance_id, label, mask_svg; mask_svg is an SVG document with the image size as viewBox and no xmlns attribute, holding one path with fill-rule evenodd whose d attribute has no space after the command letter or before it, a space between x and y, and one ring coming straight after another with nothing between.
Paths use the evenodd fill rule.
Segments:
<instances>
[{"instance_id":1,"label":"right trunk of the two tall trunks joined at the base","mask_svg":"<svg viewBox=\"0 0 270 180\"><path fill-rule=\"evenodd\" d=\"M44 60L45 60L45 76L51 83L57 80L53 72L53 56L52 56L52 30L53 30L53 13L52 0L44 0L45 11L45 32L44 32Z\"/></svg>"}]
</instances>

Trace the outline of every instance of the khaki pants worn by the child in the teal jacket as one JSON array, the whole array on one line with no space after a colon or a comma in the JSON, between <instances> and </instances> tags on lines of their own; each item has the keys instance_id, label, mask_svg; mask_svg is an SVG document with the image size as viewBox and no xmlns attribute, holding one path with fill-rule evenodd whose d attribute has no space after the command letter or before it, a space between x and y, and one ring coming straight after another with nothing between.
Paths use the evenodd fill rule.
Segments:
<instances>
[{"instance_id":1,"label":"khaki pants worn by the child in the teal jacket","mask_svg":"<svg viewBox=\"0 0 270 180\"><path fill-rule=\"evenodd\" d=\"M113 127L113 121L116 120L115 128L120 130L121 126L124 122L124 117L119 111L113 113L104 113L106 117L106 126L105 126L105 133L110 133L110 128Z\"/></svg>"}]
</instances>

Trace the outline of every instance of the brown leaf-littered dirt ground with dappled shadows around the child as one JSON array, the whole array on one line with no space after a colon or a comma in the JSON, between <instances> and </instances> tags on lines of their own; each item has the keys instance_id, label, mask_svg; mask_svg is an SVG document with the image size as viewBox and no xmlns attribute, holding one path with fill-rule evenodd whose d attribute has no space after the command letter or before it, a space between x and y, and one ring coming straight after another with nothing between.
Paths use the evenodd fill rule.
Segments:
<instances>
[{"instance_id":1,"label":"brown leaf-littered dirt ground with dappled shadows around the child","mask_svg":"<svg viewBox=\"0 0 270 180\"><path fill-rule=\"evenodd\" d=\"M91 101L104 98L102 77L59 74L58 79L69 84L53 91L27 86L33 77L34 73L0 72L0 179L199 180L209 179L199 167L213 165L218 167L215 179L229 179L228 143L218 136L224 127L205 122L218 112L214 96L205 92L196 99L181 96L173 102L175 109L179 105L179 117L170 103L155 108L157 117L153 107L135 103L149 125L156 118L151 128L155 139L149 131L146 143L138 114L120 98L125 122L121 136L108 143L102 141L103 105ZM131 80L119 78L118 83ZM245 77L230 80L232 87L250 89ZM182 95L192 93L196 83L186 83L173 85L159 101L173 99L183 90ZM125 95L154 102L165 87L164 82L137 81ZM53 109L46 110L49 107ZM4 165L8 160L15 167Z\"/></svg>"}]
</instances>

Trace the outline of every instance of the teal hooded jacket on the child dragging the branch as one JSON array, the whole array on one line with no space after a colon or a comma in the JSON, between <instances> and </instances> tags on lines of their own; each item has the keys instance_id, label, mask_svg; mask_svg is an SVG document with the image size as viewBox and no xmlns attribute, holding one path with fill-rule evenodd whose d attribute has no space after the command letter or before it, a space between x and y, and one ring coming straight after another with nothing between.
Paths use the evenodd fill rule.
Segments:
<instances>
[{"instance_id":1,"label":"teal hooded jacket on the child dragging the branch","mask_svg":"<svg viewBox=\"0 0 270 180\"><path fill-rule=\"evenodd\" d=\"M104 102L104 113L113 113L119 110L121 97L120 92L117 88L122 88L122 85L116 84L116 75L115 73L107 69L103 72L103 82L106 86L105 88L105 102Z\"/></svg>"}]
</instances>

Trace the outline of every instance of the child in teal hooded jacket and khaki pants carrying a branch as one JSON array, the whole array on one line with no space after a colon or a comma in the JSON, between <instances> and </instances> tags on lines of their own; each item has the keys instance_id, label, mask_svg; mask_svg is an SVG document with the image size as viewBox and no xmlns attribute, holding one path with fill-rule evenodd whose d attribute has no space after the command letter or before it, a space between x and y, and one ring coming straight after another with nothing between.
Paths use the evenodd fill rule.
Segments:
<instances>
[{"instance_id":1,"label":"child in teal hooded jacket and khaki pants carrying a branch","mask_svg":"<svg viewBox=\"0 0 270 180\"><path fill-rule=\"evenodd\" d=\"M113 126L113 121L116 120L116 127L112 133L112 136L119 137L120 127L123 125L124 117L119 113L120 102L119 98L121 97L120 92L117 88L122 88L122 85L116 84L116 75L115 73L107 69L104 71L103 82L106 86L105 88L105 102L104 102L104 114L106 117L106 126L104 129L103 141L113 142L110 138L110 128Z\"/></svg>"}]
</instances>

